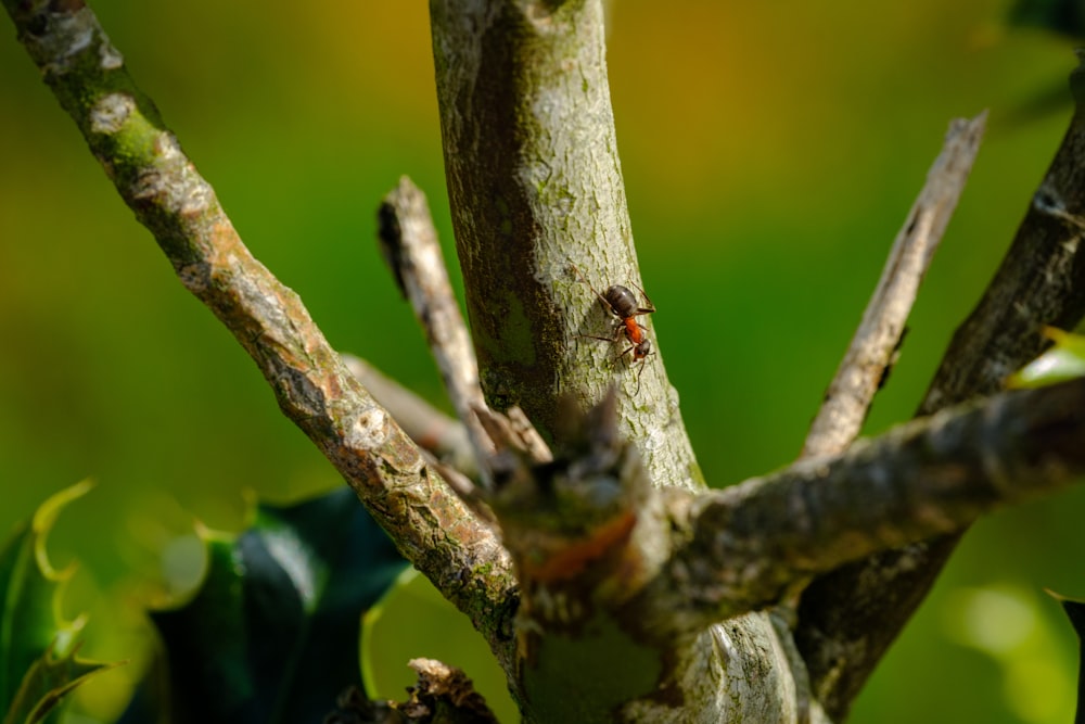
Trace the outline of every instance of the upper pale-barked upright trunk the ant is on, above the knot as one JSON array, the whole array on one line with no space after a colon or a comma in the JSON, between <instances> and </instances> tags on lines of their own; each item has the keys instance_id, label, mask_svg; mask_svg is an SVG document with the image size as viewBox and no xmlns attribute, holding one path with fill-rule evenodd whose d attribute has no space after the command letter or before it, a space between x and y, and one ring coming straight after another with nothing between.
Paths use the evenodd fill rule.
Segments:
<instances>
[{"instance_id":1,"label":"upper pale-barked upright trunk the ant is on, above the knot","mask_svg":"<svg viewBox=\"0 0 1085 724\"><path fill-rule=\"evenodd\" d=\"M552 439L561 394L586 409L616 381L621 430L652 480L702 485L660 355L637 392L640 370L614 360L621 346L580 336L607 335L614 320L573 264L600 290L642 285L601 3L433 0L430 12L452 225L490 405L519 405Z\"/></svg>"}]
</instances>

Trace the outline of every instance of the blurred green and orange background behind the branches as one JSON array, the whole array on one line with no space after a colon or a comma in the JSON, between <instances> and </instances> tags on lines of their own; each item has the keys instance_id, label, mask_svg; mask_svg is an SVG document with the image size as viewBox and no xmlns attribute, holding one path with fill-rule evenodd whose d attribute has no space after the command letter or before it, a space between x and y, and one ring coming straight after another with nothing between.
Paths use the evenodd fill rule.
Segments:
<instances>
[{"instance_id":1,"label":"blurred green and orange background behind the branches","mask_svg":"<svg viewBox=\"0 0 1085 724\"><path fill-rule=\"evenodd\" d=\"M128 3L98 12L248 246L336 347L442 399L376 253L400 174L451 249L424 3ZM1012 238L1070 104L1021 114L1071 42L1007 30L1006 0L620 0L610 74L655 328L714 484L788 463L950 117L988 132L869 432L908 418ZM15 42L0 41L0 532L84 477L54 558L85 652L132 665L85 687L108 720L146 660L140 611L180 585L193 518L242 524L244 491L340 481L229 334L175 279ZM1085 596L1085 491L993 516L857 702L856 722L1065 722L1077 642L1043 587ZM166 561L166 564L163 561ZM416 579L375 632L387 697L408 658L463 666L509 721L465 620Z\"/></svg>"}]
</instances>

